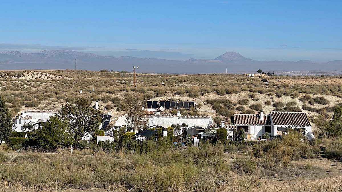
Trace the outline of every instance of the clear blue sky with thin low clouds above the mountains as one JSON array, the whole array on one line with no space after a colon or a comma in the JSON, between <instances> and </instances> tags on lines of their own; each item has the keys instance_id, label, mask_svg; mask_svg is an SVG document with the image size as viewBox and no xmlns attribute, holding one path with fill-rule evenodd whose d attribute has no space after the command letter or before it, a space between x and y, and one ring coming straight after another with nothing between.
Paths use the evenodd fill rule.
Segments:
<instances>
[{"instance_id":1,"label":"clear blue sky with thin low clouds above the mountains","mask_svg":"<svg viewBox=\"0 0 342 192\"><path fill-rule=\"evenodd\" d=\"M342 59L341 0L17 0L0 3L0 26L0 51Z\"/></svg>"}]
</instances>

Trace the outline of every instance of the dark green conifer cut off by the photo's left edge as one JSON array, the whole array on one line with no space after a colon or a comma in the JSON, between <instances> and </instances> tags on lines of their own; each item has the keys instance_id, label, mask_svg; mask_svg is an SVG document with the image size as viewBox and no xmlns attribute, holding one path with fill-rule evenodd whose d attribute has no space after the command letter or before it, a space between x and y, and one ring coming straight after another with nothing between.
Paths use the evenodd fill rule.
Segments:
<instances>
[{"instance_id":1,"label":"dark green conifer cut off by the photo's left edge","mask_svg":"<svg viewBox=\"0 0 342 192\"><path fill-rule=\"evenodd\" d=\"M8 139L12 132L12 116L0 96L0 143Z\"/></svg>"}]
</instances>

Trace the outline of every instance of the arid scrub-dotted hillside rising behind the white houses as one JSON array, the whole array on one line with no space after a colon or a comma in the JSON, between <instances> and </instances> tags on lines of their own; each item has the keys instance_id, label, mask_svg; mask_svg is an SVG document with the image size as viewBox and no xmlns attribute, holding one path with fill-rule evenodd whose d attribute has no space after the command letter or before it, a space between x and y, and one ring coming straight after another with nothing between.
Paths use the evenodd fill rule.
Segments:
<instances>
[{"instance_id":1,"label":"arid scrub-dotted hillside rising behind the white houses","mask_svg":"<svg viewBox=\"0 0 342 192\"><path fill-rule=\"evenodd\" d=\"M99 100L113 118L124 114L121 101L134 91L134 74L82 70L0 71L1 95L13 115L28 109L58 110L66 102ZM265 79L268 83L265 82ZM263 80L263 81L262 81ZM136 91L146 100L195 101L197 109L182 114L211 115L230 122L234 113L304 111L310 118L330 118L342 105L341 77L254 77L240 74L136 74ZM80 90L82 89L82 93ZM95 91L93 91L95 89ZM174 113L166 110L163 113Z\"/></svg>"}]
</instances>

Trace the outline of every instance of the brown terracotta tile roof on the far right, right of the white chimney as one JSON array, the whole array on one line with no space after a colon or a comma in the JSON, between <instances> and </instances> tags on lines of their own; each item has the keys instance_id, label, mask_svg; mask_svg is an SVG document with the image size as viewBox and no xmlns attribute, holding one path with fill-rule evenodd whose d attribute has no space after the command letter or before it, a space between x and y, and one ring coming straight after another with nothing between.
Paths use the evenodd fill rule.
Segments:
<instances>
[{"instance_id":1,"label":"brown terracotta tile roof on the far right, right of the white chimney","mask_svg":"<svg viewBox=\"0 0 342 192\"><path fill-rule=\"evenodd\" d=\"M271 116L274 125L311 126L310 121L304 112L271 111Z\"/></svg>"}]
</instances>

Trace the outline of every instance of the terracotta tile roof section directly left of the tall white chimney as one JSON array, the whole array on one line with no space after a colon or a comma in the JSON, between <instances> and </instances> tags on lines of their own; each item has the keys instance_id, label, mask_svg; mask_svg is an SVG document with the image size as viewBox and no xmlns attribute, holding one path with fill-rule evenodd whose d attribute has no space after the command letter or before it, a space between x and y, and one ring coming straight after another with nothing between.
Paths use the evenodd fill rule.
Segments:
<instances>
[{"instance_id":1,"label":"terracotta tile roof section directly left of the tall white chimney","mask_svg":"<svg viewBox=\"0 0 342 192\"><path fill-rule=\"evenodd\" d=\"M271 117L263 115L263 120L260 121L259 114L234 114L235 125L271 125Z\"/></svg>"}]
</instances>

